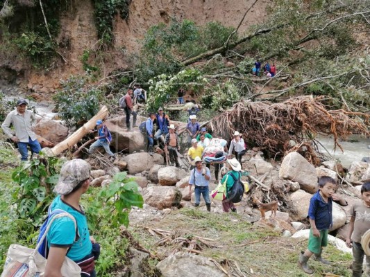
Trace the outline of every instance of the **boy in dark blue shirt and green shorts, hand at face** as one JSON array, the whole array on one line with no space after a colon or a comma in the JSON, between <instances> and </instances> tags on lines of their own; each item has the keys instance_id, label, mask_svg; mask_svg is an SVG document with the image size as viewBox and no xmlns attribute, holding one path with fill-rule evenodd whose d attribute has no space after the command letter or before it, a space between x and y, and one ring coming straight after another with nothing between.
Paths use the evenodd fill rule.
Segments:
<instances>
[{"instance_id":1,"label":"boy in dark blue shirt and green shorts, hand at face","mask_svg":"<svg viewBox=\"0 0 370 277\"><path fill-rule=\"evenodd\" d=\"M329 265L330 262L321 257L323 247L328 245L328 229L333 225L333 201L341 206L347 206L346 200L335 193L337 182L328 176L319 178L319 190L310 200L308 218L311 229L308 238L308 248L299 255L298 266L307 274L314 271L308 267L308 259L314 254L314 260Z\"/></svg>"}]
</instances>

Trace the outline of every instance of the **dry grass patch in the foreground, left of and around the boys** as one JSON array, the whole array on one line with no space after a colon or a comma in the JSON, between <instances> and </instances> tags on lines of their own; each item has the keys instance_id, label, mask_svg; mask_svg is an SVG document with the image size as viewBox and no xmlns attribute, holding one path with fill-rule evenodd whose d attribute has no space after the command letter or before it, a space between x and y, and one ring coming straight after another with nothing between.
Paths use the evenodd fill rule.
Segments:
<instances>
[{"instance_id":1,"label":"dry grass patch in the foreground, left of and around the boys","mask_svg":"<svg viewBox=\"0 0 370 277\"><path fill-rule=\"evenodd\" d=\"M221 263L235 261L246 276L307 276L297 265L298 254L307 248L307 240L283 238L274 229L253 226L243 214L215 214L197 208L183 208L172 211L163 220L144 220L140 225L130 227L140 244L165 258L174 249L174 244L169 242L158 246L156 243L160 238L145 231L144 226L172 231L174 236L182 238L196 235L215 240L215 244L226 248L204 247L201 255ZM310 260L310 266L315 270L312 276L322 277L325 273L351 276L348 269L351 255L329 245L323 251L323 258L333 262L333 265L321 265ZM155 263L154 260L152 262Z\"/></svg>"}]
</instances>

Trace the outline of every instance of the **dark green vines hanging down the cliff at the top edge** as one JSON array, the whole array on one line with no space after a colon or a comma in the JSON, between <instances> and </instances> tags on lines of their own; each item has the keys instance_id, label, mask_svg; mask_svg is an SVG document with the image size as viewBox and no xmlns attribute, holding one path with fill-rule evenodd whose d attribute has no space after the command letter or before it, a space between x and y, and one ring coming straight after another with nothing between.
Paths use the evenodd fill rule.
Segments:
<instances>
[{"instance_id":1,"label":"dark green vines hanging down the cliff at the top edge","mask_svg":"<svg viewBox=\"0 0 370 277\"><path fill-rule=\"evenodd\" d=\"M93 3L99 39L103 44L110 45L114 39L112 31L115 15L119 13L122 19L126 19L131 0L94 0Z\"/></svg>"}]
</instances>

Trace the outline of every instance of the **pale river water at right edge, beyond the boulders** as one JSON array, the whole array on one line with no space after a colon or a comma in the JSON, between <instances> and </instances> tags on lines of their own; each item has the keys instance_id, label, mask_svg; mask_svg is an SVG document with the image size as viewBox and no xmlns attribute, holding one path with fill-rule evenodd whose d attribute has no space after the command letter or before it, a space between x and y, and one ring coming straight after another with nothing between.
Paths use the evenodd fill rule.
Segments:
<instances>
[{"instance_id":1,"label":"pale river water at right edge, beyond the boulders","mask_svg":"<svg viewBox=\"0 0 370 277\"><path fill-rule=\"evenodd\" d=\"M328 150L330 155L335 159L339 159L345 168L349 168L353 161L361 161L363 157L370 156L370 139L364 136L353 135L350 136L347 141L340 141L339 144L342 145L344 152L338 147L334 151L333 136L318 136L317 140ZM323 154L328 153L321 146L319 150L321 150Z\"/></svg>"}]
</instances>

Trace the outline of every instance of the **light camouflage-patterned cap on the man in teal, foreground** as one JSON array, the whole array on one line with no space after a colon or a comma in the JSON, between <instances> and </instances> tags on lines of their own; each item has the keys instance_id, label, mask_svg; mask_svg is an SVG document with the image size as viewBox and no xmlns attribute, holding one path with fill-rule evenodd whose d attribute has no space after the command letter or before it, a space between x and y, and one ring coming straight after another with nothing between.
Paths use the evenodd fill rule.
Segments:
<instances>
[{"instance_id":1,"label":"light camouflage-patterned cap on the man in teal, foreground","mask_svg":"<svg viewBox=\"0 0 370 277\"><path fill-rule=\"evenodd\" d=\"M54 188L54 192L58 195L71 193L81 181L90 178L90 170L90 164L82 159L67 161L60 170L58 184Z\"/></svg>"}]
</instances>

